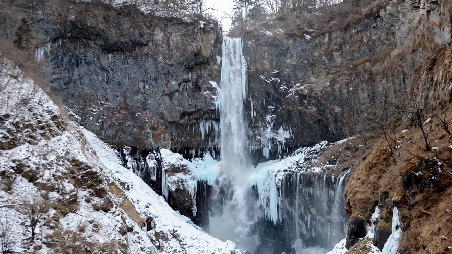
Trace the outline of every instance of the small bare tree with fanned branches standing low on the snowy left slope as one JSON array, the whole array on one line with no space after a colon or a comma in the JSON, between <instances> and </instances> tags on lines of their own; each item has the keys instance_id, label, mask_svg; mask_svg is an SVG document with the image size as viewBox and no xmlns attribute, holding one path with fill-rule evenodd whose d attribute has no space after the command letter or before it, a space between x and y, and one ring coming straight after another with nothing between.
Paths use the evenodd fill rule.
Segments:
<instances>
[{"instance_id":1,"label":"small bare tree with fanned branches standing low on the snowy left slope","mask_svg":"<svg viewBox=\"0 0 452 254\"><path fill-rule=\"evenodd\" d=\"M36 235L36 226L41 218L47 214L51 204L47 199L35 194L30 197L23 197L22 212L28 218L28 227L31 230L31 240L34 241Z\"/></svg>"}]
</instances>

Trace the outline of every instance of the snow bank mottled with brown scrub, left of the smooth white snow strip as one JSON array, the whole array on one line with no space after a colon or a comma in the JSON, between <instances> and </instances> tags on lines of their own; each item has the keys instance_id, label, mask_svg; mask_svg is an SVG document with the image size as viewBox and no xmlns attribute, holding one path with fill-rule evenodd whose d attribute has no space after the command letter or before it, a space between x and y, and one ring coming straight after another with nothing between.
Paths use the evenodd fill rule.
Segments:
<instances>
[{"instance_id":1,"label":"snow bank mottled with brown scrub, left of the smooth white snow strip","mask_svg":"<svg viewBox=\"0 0 452 254\"><path fill-rule=\"evenodd\" d=\"M113 195L93 194L108 185L88 160L78 125L66 122L39 86L5 59L0 59L0 119L7 119L0 124L0 143L8 144L0 149L0 175L7 176L0 179L0 220L9 220L17 231L12 251L155 253L150 238ZM14 204L32 196L45 196L50 208L30 243L25 205ZM95 209L103 202L105 211Z\"/></svg>"}]
</instances>

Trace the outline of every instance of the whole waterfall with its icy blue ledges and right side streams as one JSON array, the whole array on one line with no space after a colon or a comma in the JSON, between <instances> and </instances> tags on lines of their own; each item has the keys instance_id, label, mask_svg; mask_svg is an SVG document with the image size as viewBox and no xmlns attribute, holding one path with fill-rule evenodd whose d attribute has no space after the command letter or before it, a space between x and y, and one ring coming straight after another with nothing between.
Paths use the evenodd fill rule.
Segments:
<instances>
[{"instance_id":1,"label":"whole waterfall with its icy blue ledges and right side streams","mask_svg":"<svg viewBox=\"0 0 452 254\"><path fill-rule=\"evenodd\" d=\"M241 250L263 254L326 253L347 231L342 195L348 171L338 176L337 171L331 171L334 165L313 168L313 162L326 149L345 141L320 142L281 160L250 165L244 100L251 95L245 89L242 40L224 37L222 50L221 82L219 86L211 82L218 91L220 123L203 119L199 124L202 139L210 133L220 140L221 161L192 156L188 160L179 155L175 164L191 170L191 176L185 173L198 181L193 188L185 188L194 198L193 209L183 206L185 200L169 191L164 166L167 159L171 164L166 155L171 154L169 150L138 153L125 148L120 151L124 165L163 195L175 210L192 218L211 236L231 240ZM251 105L253 110L254 106ZM261 138L267 143L275 138L283 146L287 135L283 129L273 135L271 120L271 128L263 129L268 135L262 134Z\"/></svg>"}]
</instances>

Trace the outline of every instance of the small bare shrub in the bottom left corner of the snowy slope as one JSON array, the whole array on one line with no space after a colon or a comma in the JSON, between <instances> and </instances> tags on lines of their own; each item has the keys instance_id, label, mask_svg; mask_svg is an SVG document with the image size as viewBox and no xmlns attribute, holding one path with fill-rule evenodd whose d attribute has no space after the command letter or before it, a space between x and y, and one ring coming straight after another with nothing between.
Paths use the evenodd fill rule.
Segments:
<instances>
[{"instance_id":1,"label":"small bare shrub in the bottom left corner of the snowy slope","mask_svg":"<svg viewBox=\"0 0 452 254\"><path fill-rule=\"evenodd\" d=\"M2 254L14 253L14 247L20 241L17 225L12 223L8 215L0 217L0 250Z\"/></svg>"}]
</instances>

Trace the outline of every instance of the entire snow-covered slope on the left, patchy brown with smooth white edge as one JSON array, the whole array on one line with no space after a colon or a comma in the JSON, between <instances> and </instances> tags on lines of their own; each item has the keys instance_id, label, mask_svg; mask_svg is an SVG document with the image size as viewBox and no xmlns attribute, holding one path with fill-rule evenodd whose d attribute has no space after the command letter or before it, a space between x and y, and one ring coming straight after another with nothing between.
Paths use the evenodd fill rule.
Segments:
<instances>
[{"instance_id":1,"label":"entire snow-covered slope on the left, patchy brown with smooth white edge","mask_svg":"<svg viewBox=\"0 0 452 254\"><path fill-rule=\"evenodd\" d=\"M31 241L27 207L45 204ZM36 253L239 253L174 212L94 134L0 59L0 222ZM6 223L11 226L4 227Z\"/></svg>"}]
</instances>

